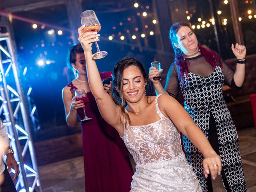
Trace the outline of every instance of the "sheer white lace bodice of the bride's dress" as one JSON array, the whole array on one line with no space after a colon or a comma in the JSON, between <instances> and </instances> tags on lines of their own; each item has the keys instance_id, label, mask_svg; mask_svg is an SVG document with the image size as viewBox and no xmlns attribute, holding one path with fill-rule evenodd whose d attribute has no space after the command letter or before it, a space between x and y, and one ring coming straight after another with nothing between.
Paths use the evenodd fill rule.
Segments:
<instances>
[{"instance_id":1,"label":"sheer white lace bodice of the bride's dress","mask_svg":"<svg viewBox=\"0 0 256 192\"><path fill-rule=\"evenodd\" d=\"M123 140L136 164L171 160L183 154L176 126L158 108L159 96L155 104L160 120L142 126L130 126L127 122L124 128Z\"/></svg>"}]
</instances>

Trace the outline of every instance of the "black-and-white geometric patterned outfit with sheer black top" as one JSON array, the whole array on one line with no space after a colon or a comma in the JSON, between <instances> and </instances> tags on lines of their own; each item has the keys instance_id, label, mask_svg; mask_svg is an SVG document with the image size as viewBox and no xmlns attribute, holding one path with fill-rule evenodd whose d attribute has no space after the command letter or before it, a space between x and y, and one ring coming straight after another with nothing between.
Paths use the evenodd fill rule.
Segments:
<instances>
[{"instance_id":1,"label":"black-and-white geometric patterned outfit with sheer black top","mask_svg":"<svg viewBox=\"0 0 256 192\"><path fill-rule=\"evenodd\" d=\"M195 58L195 60L196 59L205 62L202 56ZM190 64L191 61L189 61ZM178 82L174 83L174 81L170 79L178 79L178 74L177 71L175 72L176 67L175 69L174 66L172 67L173 68L170 69L172 72L169 70L169 75L172 75L172 77L170 78L169 76L166 82L172 85L167 85L166 91L174 96L173 92L176 91L175 87L177 88ZM227 68L227 66L225 65L224 68ZM193 69L193 67L191 69ZM196 69L196 67L194 69ZM198 66L198 70L199 69L200 66ZM225 76L229 76L231 72L230 68L223 72L223 69L219 66L216 66L214 71L211 74L208 73L207 76L200 76L190 71L188 77L184 75L184 85L182 86L179 82L179 88L185 99L184 108L190 114L196 125L204 132L214 150L220 155L223 166L221 176L224 187L227 191L246 192L242 160L238 148L238 135L222 94ZM200 74L200 72L197 73ZM232 84L231 81L230 84ZM170 86L172 86L172 88L170 88ZM177 94L177 91L175 94ZM215 137L214 132L216 134ZM210 136L210 134L212 134L212 136ZM208 182L211 182L211 180L209 181L204 177L202 166L204 157L196 146L184 135L183 144L188 163L193 167L203 191L207 192Z\"/></svg>"}]
</instances>

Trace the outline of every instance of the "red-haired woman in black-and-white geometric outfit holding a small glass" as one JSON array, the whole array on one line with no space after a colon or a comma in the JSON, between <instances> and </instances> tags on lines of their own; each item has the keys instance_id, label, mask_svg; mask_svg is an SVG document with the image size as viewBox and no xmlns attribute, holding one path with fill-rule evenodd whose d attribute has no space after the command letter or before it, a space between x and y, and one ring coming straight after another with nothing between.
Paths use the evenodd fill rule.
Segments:
<instances>
[{"instance_id":1,"label":"red-haired woman in black-and-white geometric outfit holding a small glass","mask_svg":"<svg viewBox=\"0 0 256 192\"><path fill-rule=\"evenodd\" d=\"M234 72L216 52L198 44L189 24L178 22L170 29L175 60L169 69L165 89L153 77L156 68L150 68L150 80L158 94L177 98L179 90L184 97L184 108L204 132L222 160L222 182L228 192L245 192L246 184L238 148L238 136L230 112L225 104L222 86L238 88L244 82L245 46L232 44L237 58ZM202 153L183 135L184 150L204 192L212 191L211 176L204 177ZM215 176L213 176L215 178Z\"/></svg>"}]
</instances>

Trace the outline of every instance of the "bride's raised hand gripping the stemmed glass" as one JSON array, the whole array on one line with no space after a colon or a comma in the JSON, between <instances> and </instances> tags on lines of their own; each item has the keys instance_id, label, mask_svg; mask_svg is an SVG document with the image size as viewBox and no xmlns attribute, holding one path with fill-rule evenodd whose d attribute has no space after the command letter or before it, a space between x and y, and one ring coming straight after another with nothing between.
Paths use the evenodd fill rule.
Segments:
<instances>
[{"instance_id":1,"label":"bride's raised hand gripping the stemmed glass","mask_svg":"<svg viewBox=\"0 0 256 192\"><path fill-rule=\"evenodd\" d=\"M80 41L84 49L84 52L92 51L92 44L95 41L98 42L100 40L98 38L100 34L97 34L97 32L92 32L92 31L82 32L83 29L84 29L84 25L78 28L78 34L79 34L78 40Z\"/></svg>"}]
</instances>

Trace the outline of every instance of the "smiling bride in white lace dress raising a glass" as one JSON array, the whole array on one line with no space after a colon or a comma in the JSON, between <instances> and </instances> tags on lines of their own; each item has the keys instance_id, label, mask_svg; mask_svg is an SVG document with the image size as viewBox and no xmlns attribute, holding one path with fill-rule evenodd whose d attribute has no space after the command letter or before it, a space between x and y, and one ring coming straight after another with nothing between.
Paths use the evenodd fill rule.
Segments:
<instances>
[{"instance_id":1,"label":"smiling bride in white lace dress raising a glass","mask_svg":"<svg viewBox=\"0 0 256 192\"><path fill-rule=\"evenodd\" d=\"M90 89L103 118L122 136L136 162L131 192L201 192L199 182L182 152L180 130L204 154L205 176L221 171L220 157L184 108L171 96L146 96L148 76L140 62L123 58L114 67L114 100L104 91L92 60L98 34L82 33ZM98 39L96 40L98 41ZM178 130L177 130L178 128Z\"/></svg>"}]
</instances>

